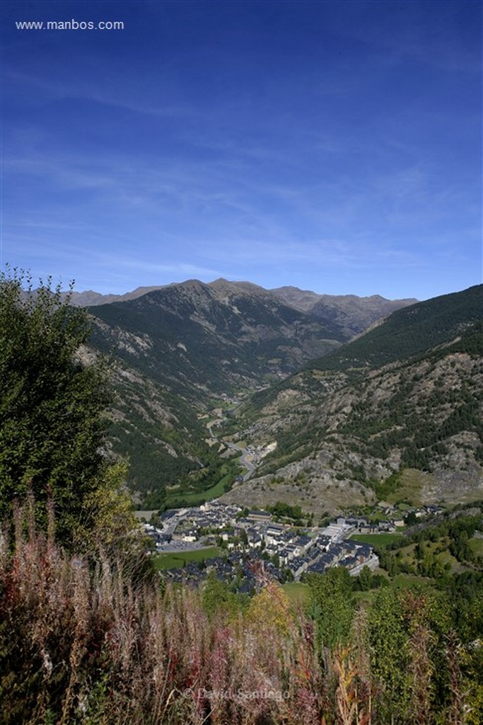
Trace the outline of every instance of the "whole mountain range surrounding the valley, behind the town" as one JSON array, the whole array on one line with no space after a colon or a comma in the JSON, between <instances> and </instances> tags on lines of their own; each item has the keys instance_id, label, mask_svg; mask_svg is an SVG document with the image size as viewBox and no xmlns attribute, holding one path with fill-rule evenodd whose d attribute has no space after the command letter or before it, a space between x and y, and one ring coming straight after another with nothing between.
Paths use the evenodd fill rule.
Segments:
<instances>
[{"instance_id":1,"label":"whole mountain range surrounding the valley, behind the town","mask_svg":"<svg viewBox=\"0 0 483 725\"><path fill-rule=\"evenodd\" d=\"M130 457L138 502L216 482L226 451L206 423L221 410L219 436L274 448L230 500L324 513L374 499L391 476L404 492L408 471L420 496L466 495L482 471L482 289L417 303L191 280L90 305L91 347L114 361L110 444ZM98 299L74 301L85 294ZM462 405L473 422L446 434ZM410 421L427 445L403 434Z\"/></svg>"}]
</instances>

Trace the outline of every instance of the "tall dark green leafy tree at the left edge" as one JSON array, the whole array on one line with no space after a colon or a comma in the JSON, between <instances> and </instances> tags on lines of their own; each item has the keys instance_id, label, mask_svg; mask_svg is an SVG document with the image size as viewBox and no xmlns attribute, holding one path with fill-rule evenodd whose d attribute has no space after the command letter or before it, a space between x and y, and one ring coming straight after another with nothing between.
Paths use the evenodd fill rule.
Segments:
<instances>
[{"instance_id":1,"label":"tall dark green leafy tree at the left edge","mask_svg":"<svg viewBox=\"0 0 483 725\"><path fill-rule=\"evenodd\" d=\"M64 543L132 522L106 457L108 370L88 359L88 313L69 302L51 278L34 290L23 271L0 273L0 518L30 496L45 526L51 500Z\"/></svg>"}]
</instances>

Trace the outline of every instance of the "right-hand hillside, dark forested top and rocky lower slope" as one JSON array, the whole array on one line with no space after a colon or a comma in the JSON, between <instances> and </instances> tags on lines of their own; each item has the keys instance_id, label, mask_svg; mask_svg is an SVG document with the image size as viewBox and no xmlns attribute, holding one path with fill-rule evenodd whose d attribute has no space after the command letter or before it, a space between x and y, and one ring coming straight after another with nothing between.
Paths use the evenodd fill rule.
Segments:
<instances>
[{"instance_id":1,"label":"right-hand hillside, dark forested top and rocky lower slope","mask_svg":"<svg viewBox=\"0 0 483 725\"><path fill-rule=\"evenodd\" d=\"M243 437L277 448L227 500L324 513L409 479L427 502L481 497L482 318L483 286L418 303L256 394Z\"/></svg>"}]
</instances>

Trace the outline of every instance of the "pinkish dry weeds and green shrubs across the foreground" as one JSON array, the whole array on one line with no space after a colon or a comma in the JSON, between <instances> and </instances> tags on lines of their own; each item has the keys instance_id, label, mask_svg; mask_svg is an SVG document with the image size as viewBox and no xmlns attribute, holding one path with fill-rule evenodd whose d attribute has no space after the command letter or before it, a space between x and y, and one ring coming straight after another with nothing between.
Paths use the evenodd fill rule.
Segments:
<instances>
[{"instance_id":1,"label":"pinkish dry weeds and green shrubs across the foreground","mask_svg":"<svg viewBox=\"0 0 483 725\"><path fill-rule=\"evenodd\" d=\"M290 601L259 571L238 599L170 587L102 552L68 554L17 512L0 546L0 711L17 724L434 724L483 718L481 574L458 591L347 571ZM454 592L453 592L454 593Z\"/></svg>"}]
</instances>

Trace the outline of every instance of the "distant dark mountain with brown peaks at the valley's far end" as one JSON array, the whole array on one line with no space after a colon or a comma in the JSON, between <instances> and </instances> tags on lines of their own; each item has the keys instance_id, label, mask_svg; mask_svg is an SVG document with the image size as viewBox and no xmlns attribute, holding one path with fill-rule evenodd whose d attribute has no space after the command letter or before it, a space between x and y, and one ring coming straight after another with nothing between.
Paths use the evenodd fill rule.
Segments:
<instances>
[{"instance_id":1,"label":"distant dark mountain with brown peaks at the valley's far end","mask_svg":"<svg viewBox=\"0 0 483 725\"><path fill-rule=\"evenodd\" d=\"M127 302L91 307L101 320L93 340L115 345L174 392L197 397L249 389L286 376L338 347L336 323L314 320L256 286L167 286Z\"/></svg>"}]
</instances>

